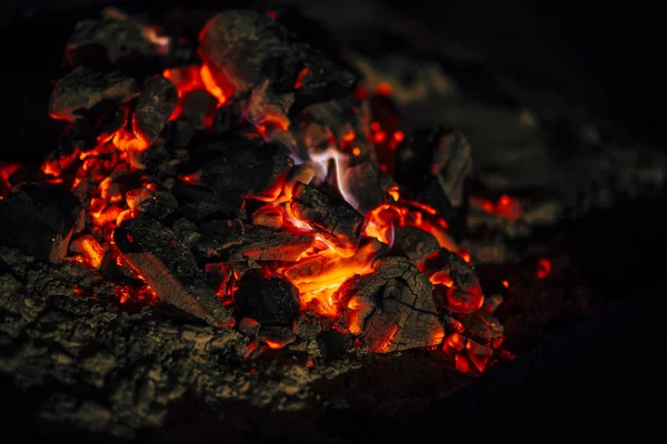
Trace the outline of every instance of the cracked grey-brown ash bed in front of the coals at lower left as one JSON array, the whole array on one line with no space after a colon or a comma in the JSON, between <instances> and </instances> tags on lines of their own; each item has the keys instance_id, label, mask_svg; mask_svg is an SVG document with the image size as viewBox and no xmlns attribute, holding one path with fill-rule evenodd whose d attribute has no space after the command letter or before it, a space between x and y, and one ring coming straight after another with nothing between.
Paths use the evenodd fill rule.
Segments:
<instances>
[{"instance_id":1,"label":"cracked grey-brown ash bed in front of the coals at lower left","mask_svg":"<svg viewBox=\"0 0 667 444\"><path fill-rule=\"evenodd\" d=\"M180 427L185 438L206 434L207 426L222 427L226 440L242 440L248 433L242 424L261 421L261 430L253 431L259 436L297 434L312 442L328 436L313 424L341 400L389 421L398 405L425 407L471 380L432 353L342 357L313 369L293 359L246 362L249 340L233 329L169 317L160 306L126 312L74 296L74 283L94 289L98 297L113 293L89 269L38 263L2 246L0 269L0 375L22 390L48 393L30 405L51 437L62 432L50 426L66 422L70 434L90 431L121 440L148 431L173 435ZM368 379L384 381L385 389L376 390ZM23 396L7 392L4 400L28 402L14 395ZM182 411L193 402L198 417L211 412L218 418L197 421L190 430Z\"/></svg>"}]
</instances>

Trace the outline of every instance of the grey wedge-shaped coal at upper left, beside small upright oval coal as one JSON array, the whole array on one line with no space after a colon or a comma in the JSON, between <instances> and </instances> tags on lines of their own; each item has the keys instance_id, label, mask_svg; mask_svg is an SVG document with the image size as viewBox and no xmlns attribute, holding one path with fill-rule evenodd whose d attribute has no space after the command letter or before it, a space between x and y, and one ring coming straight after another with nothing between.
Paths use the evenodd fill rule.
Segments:
<instances>
[{"instance_id":1,"label":"grey wedge-shaped coal at upper left, beside small upright oval coal","mask_svg":"<svg viewBox=\"0 0 667 444\"><path fill-rule=\"evenodd\" d=\"M93 110L113 108L139 94L135 79L120 72L98 72L78 67L56 82L49 113L73 122Z\"/></svg>"}]
</instances>

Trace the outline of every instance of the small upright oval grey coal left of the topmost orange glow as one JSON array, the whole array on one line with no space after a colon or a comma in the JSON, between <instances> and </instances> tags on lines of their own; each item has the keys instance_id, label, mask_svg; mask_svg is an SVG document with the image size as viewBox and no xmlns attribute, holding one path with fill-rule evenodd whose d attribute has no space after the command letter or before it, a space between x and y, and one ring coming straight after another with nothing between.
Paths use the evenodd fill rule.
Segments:
<instances>
[{"instance_id":1,"label":"small upright oval grey coal left of the topmost orange glow","mask_svg":"<svg viewBox=\"0 0 667 444\"><path fill-rule=\"evenodd\" d=\"M178 90L162 75L148 79L137 99L135 129L153 141L169 122L169 117L178 104Z\"/></svg>"}]
</instances>

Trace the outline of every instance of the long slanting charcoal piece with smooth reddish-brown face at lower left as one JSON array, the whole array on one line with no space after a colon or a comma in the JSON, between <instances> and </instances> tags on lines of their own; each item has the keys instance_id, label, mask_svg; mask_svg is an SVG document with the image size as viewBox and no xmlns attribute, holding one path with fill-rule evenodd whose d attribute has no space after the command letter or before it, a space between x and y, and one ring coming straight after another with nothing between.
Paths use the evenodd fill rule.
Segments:
<instances>
[{"instance_id":1,"label":"long slanting charcoal piece with smooth reddish-brown face at lower left","mask_svg":"<svg viewBox=\"0 0 667 444\"><path fill-rule=\"evenodd\" d=\"M123 221L113 232L113 240L162 301L211 325L233 325L233 314L206 284L195 256L171 230L140 216Z\"/></svg>"}]
</instances>

